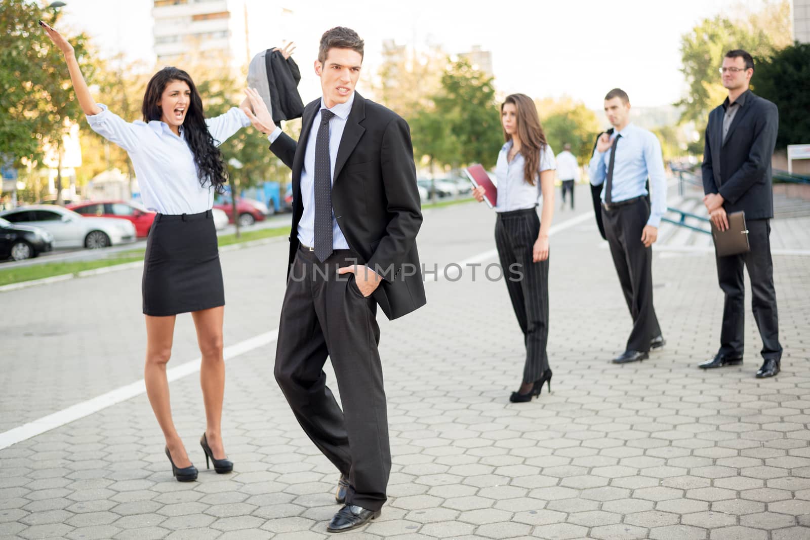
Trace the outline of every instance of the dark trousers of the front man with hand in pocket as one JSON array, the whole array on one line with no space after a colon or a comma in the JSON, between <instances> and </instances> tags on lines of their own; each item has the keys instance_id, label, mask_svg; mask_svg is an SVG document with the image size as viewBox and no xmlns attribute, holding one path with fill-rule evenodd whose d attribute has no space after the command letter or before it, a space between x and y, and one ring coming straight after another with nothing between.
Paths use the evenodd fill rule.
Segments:
<instances>
[{"instance_id":1,"label":"dark trousers of the front man with hand in pocket","mask_svg":"<svg viewBox=\"0 0 810 540\"><path fill-rule=\"evenodd\" d=\"M281 308L275 380L309 438L349 478L346 502L378 510L391 470L380 329L374 300L360 294L353 274L337 274L354 264L347 249L323 263L298 250ZM327 355L343 410L326 386Z\"/></svg>"}]
</instances>

